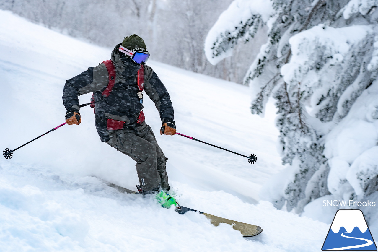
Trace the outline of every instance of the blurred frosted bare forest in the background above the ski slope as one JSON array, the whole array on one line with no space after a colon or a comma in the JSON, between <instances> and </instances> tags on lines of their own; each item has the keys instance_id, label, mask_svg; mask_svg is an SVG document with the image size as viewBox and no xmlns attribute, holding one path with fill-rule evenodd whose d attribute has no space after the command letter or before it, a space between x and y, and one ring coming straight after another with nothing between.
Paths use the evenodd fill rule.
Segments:
<instances>
[{"instance_id":1,"label":"blurred frosted bare forest in the background above the ski slope","mask_svg":"<svg viewBox=\"0 0 378 252\"><path fill-rule=\"evenodd\" d=\"M253 43L237 45L234 56L217 65L206 59L204 39L232 0L0 0L31 22L60 33L114 48L125 36L143 37L151 58L192 72L242 83L265 43L262 30ZM116 27L116 28L115 28ZM174 52L180 51L175 54ZM246 55L248 51L251 55ZM174 57L172 57L174 55Z\"/></svg>"}]
</instances>

